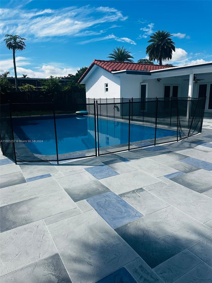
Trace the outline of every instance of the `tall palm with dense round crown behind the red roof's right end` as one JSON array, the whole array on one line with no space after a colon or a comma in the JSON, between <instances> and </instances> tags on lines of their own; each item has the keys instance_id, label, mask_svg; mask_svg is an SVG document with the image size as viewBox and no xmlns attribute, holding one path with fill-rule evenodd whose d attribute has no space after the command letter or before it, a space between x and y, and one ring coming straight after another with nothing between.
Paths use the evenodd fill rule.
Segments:
<instances>
[{"instance_id":1,"label":"tall palm with dense round crown behind the red roof's right end","mask_svg":"<svg viewBox=\"0 0 212 283\"><path fill-rule=\"evenodd\" d=\"M175 51L174 42L170 38L167 31L156 31L150 36L148 42L152 42L146 48L146 54L149 55L150 61L159 61L159 65L162 65L162 60L172 59L172 51Z\"/></svg>"}]
</instances>

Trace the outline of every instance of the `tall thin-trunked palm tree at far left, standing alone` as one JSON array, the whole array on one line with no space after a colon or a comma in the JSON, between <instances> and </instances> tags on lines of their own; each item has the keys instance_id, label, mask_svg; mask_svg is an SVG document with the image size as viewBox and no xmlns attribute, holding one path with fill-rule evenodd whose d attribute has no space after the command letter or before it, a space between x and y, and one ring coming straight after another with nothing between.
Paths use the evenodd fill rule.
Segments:
<instances>
[{"instance_id":1,"label":"tall thin-trunked palm tree at far left, standing alone","mask_svg":"<svg viewBox=\"0 0 212 283\"><path fill-rule=\"evenodd\" d=\"M22 38L18 35L5 35L5 44L7 48L10 50L12 49L13 51L13 64L14 64L14 72L15 72L15 82L16 82L16 91L18 92L18 80L17 80L17 72L16 72L16 57L15 57L15 52L17 50L22 51L25 49L25 43L23 40L26 40L25 38Z\"/></svg>"}]
</instances>

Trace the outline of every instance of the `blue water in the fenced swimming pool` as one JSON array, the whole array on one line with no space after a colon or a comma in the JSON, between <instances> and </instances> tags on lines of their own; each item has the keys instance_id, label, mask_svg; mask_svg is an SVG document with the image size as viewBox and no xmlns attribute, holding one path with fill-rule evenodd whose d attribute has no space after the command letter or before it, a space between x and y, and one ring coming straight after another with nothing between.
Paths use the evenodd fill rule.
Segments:
<instances>
[{"instance_id":1,"label":"blue water in the fenced swimming pool","mask_svg":"<svg viewBox=\"0 0 212 283\"><path fill-rule=\"evenodd\" d=\"M99 147L128 143L129 125L125 122L99 118ZM57 115L58 153L68 153L95 148L94 117L75 115ZM54 155L54 120L50 116L13 118L13 128L20 140L35 154ZM154 138L155 128L130 125L130 142ZM156 138L176 136L172 130L157 129ZM173 137L174 139L174 137Z\"/></svg>"}]
</instances>

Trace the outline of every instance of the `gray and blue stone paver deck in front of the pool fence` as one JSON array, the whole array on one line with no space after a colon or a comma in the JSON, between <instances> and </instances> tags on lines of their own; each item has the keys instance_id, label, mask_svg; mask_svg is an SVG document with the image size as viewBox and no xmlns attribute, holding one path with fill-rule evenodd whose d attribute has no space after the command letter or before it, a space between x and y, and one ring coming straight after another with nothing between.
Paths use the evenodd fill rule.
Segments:
<instances>
[{"instance_id":1,"label":"gray and blue stone paver deck in front of the pool fence","mask_svg":"<svg viewBox=\"0 0 212 283\"><path fill-rule=\"evenodd\" d=\"M0 164L0 282L212 282L210 115L180 142Z\"/></svg>"}]
</instances>

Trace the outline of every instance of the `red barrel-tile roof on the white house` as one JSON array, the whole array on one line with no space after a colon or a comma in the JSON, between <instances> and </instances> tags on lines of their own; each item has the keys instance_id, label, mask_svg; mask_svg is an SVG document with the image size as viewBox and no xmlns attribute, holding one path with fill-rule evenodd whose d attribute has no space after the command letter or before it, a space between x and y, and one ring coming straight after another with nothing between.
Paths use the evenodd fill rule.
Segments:
<instances>
[{"instance_id":1,"label":"red barrel-tile roof on the white house","mask_svg":"<svg viewBox=\"0 0 212 283\"><path fill-rule=\"evenodd\" d=\"M108 72L122 71L122 70L152 71L152 70L170 68L170 66L163 66L163 65L128 63L128 62L106 61L106 60L94 59L94 61L87 68L85 73L81 76L78 83L80 83L83 80L83 78L85 78L86 74L90 71L90 69L94 66L94 64L105 69ZM174 67L174 66L171 66L171 67Z\"/></svg>"}]
</instances>

